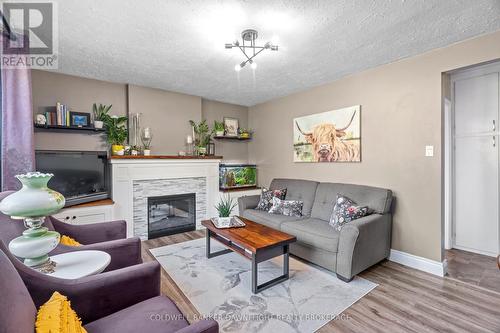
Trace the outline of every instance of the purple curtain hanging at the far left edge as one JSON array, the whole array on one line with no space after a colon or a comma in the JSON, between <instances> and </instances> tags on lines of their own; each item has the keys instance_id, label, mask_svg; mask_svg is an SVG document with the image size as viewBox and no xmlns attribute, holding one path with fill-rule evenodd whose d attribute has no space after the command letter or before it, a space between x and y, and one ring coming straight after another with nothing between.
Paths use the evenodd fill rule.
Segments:
<instances>
[{"instance_id":1,"label":"purple curtain hanging at the far left edge","mask_svg":"<svg viewBox=\"0 0 500 333\"><path fill-rule=\"evenodd\" d=\"M31 69L1 69L2 191L20 187L15 175L34 171Z\"/></svg>"}]
</instances>

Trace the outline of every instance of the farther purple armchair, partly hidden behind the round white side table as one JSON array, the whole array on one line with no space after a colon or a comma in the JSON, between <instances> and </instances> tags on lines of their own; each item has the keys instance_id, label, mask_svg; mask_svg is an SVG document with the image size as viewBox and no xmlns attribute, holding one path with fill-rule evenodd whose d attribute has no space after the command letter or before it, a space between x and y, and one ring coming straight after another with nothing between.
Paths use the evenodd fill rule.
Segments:
<instances>
[{"instance_id":1,"label":"farther purple armchair, partly hidden behind the round white side table","mask_svg":"<svg viewBox=\"0 0 500 333\"><path fill-rule=\"evenodd\" d=\"M11 193L14 192L1 192L0 201ZM126 238L127 225L125 221L71 225L49 216L45 219L44 226L84 244L82 246L59 244L49 255L82 250L101 250L111 256L111 263L105 271L142 263L141 240L138 237ZM24 230L22 221L13 220L0 213L0 240L6 245L12 239L20 236Z\"/></svg>"}]
</instances>

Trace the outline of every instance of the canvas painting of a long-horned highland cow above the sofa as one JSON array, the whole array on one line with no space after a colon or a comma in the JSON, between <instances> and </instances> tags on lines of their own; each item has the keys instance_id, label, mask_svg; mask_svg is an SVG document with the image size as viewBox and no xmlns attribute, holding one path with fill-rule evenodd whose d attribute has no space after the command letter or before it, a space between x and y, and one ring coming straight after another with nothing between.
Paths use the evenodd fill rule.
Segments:
<instances>
[{"instance_id":1,"label":"canvas painting of a long-horned highland cow above the sofa","mask_svg":"<svg viewBox=\"0 0 500 333\"><path fill-rule=\"evenodd\" d=\"M361 162L361 106L293 120L294 162Z\"/></svg>"}]
</instances>

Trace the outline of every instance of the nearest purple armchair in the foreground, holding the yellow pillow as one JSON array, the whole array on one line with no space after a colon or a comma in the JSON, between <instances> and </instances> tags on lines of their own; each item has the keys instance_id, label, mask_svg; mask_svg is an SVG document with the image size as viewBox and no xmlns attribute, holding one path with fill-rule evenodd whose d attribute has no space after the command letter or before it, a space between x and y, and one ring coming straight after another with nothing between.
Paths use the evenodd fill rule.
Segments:
<instances>
[{"instance_id":1,"label":"nearest purple armchair in the foreground, holding the yellow pillow","mask_svg":"<svg viewBox=\"0 0 500 333\"><path fill-rule=\"evenodd\" d=\"M38 305L32 299L32 291L28 291L32 282L41 285L44 302L54 290L67 296L89 333L219 331L217 322L210 319L189 325L177 306L168 297L160 296L157 262L137 265L140 270L133 266L78 280L62 280L25 266L5 252L3 242L0 247L0 332L33 333Z\"/></svg>"}]
</instances>

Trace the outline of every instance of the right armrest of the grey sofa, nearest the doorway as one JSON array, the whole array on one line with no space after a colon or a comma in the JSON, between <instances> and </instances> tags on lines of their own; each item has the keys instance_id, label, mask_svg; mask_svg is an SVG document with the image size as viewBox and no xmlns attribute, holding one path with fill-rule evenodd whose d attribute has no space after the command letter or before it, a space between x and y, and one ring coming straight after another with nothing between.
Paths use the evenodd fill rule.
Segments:
<instances>
[{"instance_id":1,"label":"right armrest of the grey sofa, nearest the doorway","mask_svg":"<svg viewBox=\"0 0 500 333\"><path fill-rule=\"evenodd\" d=\"M391 249L390 214L372 214L346 224L340 231L337 275L350 281L354 275L387 258Z\"/></svg>"}]
</instances>

